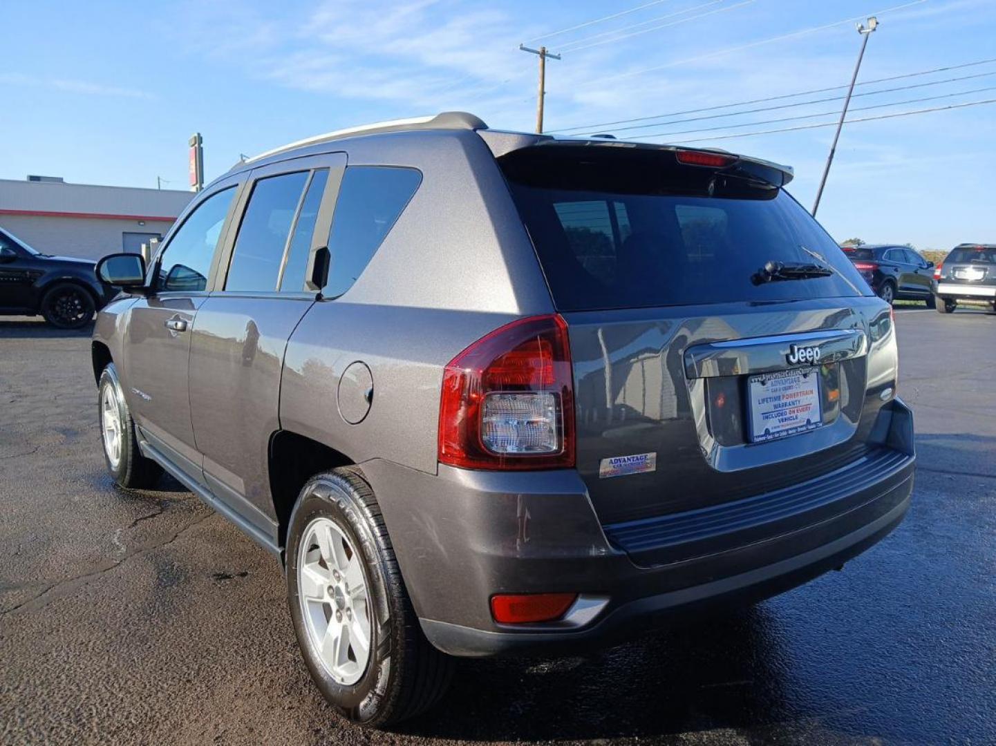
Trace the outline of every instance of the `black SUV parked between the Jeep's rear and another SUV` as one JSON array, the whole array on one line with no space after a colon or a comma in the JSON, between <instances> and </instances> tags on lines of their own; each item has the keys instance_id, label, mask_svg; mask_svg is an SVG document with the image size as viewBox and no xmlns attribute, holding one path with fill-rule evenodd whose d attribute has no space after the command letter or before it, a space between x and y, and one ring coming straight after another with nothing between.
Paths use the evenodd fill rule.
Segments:
<instances>
[{"instance_id":1,"label":"black SUV parked between the Jeep's rear and another SUV","mask_svg":"<svg viewBox=\"0 0 996 746\"><path fill-rule=\"evenodd\" d=\"M875 295L886 303L926 301L934 307L930 282L933 262L928 262L906 246L845 247L845 254L862 273Z\"/></svg>"}]
</instances>

